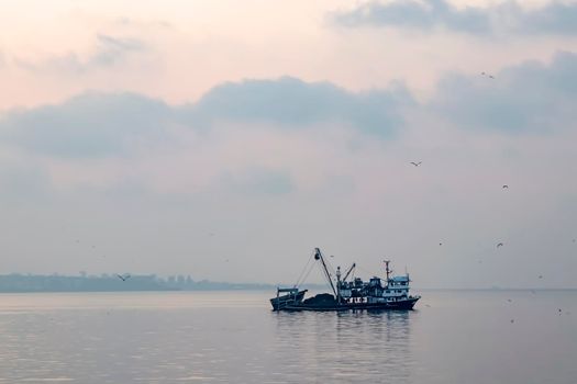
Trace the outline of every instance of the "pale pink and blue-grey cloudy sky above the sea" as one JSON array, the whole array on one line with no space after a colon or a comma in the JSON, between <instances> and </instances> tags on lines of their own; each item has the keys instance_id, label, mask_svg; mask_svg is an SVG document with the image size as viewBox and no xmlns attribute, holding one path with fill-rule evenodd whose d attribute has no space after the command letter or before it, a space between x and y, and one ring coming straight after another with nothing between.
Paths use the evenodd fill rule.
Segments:
<instances>
[{"instance_id":1,"label":"pale pink and blue-grey cloudy sky above the sea","mask_svg":"<svg viewBox=\"0 0 577 384\"><path fill-rule=\"evenodd\" d=\"M0 0L0 273L577 287L576 1Z\"/></svg>"}]
</instances>

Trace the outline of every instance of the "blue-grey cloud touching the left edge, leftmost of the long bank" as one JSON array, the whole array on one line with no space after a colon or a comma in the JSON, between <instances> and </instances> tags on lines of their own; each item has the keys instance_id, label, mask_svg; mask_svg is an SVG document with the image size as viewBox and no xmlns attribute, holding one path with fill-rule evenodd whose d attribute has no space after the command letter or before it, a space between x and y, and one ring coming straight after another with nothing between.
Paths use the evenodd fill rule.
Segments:
<instances>
[{"instance_id":1,"label":"blue-grey cloud touching the left edge, leftmost of the long bank","mask_svg":"<svg viewBox=\"0 0 577 384\"><path fill-rule=\"evenodd\" d=\"M64 158L122 155L131 143L165 135L174 111L134 93L85 93L58 105L13 110L0 118L0 139Z\"/></svg>"}]
</instances>

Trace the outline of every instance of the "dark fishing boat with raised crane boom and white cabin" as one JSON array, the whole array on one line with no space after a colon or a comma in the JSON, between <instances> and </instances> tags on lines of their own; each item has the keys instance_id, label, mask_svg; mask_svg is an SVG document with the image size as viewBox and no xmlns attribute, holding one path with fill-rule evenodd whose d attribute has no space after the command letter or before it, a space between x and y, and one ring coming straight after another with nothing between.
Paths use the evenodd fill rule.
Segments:
<instances>
[{"instance_id":1,"label":"dark fishing boat with raised crane boom and white cabin","mask_svg":"<svg viewBox=\"0 0 577 384\"><path fill-rule=\"evenodd\" d=\"M307 264L303 272L310 273L314 262L331 289L330 293L320 293L304 298L307 290L299 289L301 278L292 287L277 287L276 297L270 298L273 310L349 310L349 309L412 309L421 298L420 295L409 293L409 273L392 275L389 268L390 261L385 260L386 279L373 276L368 281L353 278L356 263L346 272L341 272L341 267L335 272L319 248L314 248L313 263ZM310 269L309 264L311 266ZM304 273L301 273L301 276ZM349 279L351 278L351 279Z\"/></svg>"}]
</instances>

